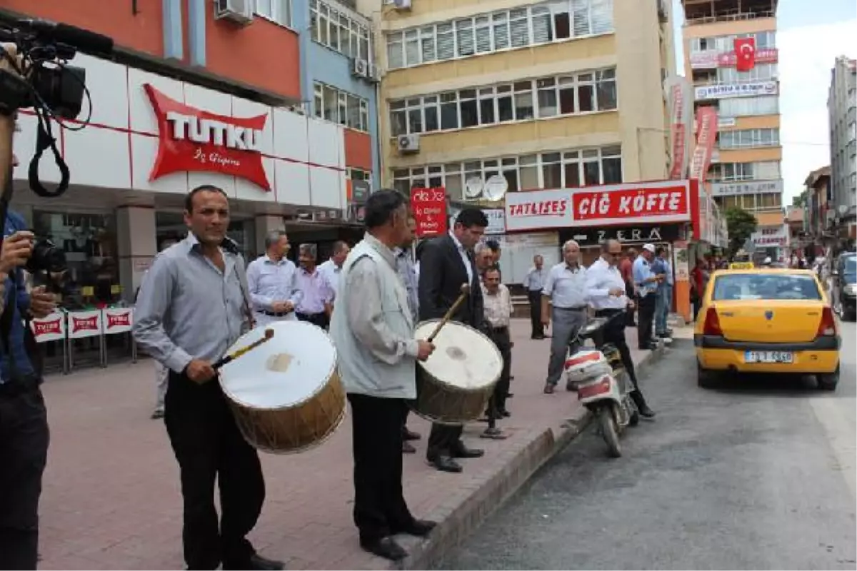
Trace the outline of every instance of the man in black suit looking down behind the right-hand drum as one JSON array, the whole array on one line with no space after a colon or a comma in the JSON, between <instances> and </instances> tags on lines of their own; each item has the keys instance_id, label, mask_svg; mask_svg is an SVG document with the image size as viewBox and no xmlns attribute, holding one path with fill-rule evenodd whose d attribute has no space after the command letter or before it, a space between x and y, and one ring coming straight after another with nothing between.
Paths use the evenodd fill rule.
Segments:
<instances>
[{"instance_id":1,"label":"man in black suit looking down behind the right-hand drum","mask_svg":"<svg viewBox=\"0 0 857 571\"><path fill-rule=\"evenodd\" d=\"M473 259L476 246L488 217L477 208L458 213L452 230L425 243L420 256L420 320L440 319L461 294L461 284L470 283L470 296L458 307L452 319L483 329L482 287ZM428 463L441 472L461 472L454 458L478 458L483 450L468 449L461 441L461 425L432 425L428 436Z\"/></svg>"}]
</instances>

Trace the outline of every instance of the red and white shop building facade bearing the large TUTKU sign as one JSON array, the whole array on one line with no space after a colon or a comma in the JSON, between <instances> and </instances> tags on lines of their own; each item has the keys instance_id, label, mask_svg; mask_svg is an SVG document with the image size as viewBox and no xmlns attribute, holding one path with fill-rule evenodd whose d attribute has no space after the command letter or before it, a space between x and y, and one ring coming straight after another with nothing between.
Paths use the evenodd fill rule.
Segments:
<instances>
[{"instance_id":1,"label":"red and white shop building facade bearing the large TUTKU sign","mask_svg":"<svg viewBox=\"0 0 857 571\"><path fill-rule=\"evenodd\" d=\"M22 111L15 138L12 206L63 247L72 281L89 297L133 298L162 243L186 234L183 196L202 183L229 195L229 235L247 258L263 251L272 229L319 243L322 256L332 241L362 234L348 218L349 176L374 170L373 88L349 85L347 54L325 62L330 48L309 45L309 5L297 8L292 0L3 3L0 18L62 21L116 42L111 61L80 54L71 62L87 71L91 104L80 118L92 115L86 128L55 129L71 173L66 193L45 199L27 188L31 111ZM354 30L357 54L368 54L351 21L339 18L337 36ZM309 65L327 65L330 75L309 74ZM306 112L314 111L308 82L321 80L337 90L335 117ZM45 154L39 174L55 185L59 171Z\"/></svg>"}]
</instances>

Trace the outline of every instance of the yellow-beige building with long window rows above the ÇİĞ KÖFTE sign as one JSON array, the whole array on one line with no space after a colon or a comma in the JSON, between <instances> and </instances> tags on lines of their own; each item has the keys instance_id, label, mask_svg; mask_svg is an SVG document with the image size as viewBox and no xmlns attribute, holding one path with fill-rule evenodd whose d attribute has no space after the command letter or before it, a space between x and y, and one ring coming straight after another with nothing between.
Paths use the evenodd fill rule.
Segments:
<instances>
[{"instance_id":1,"label":"yellow-beige building with long window rows above the \u00c7\u0130\u011e K\u00d6FTE sign","mask_svg":"<svg viewBox=\"0 0 857 571\"><path fill-rule=\"evenodd\" d=\"M669 3L397 0L381 11L384 177L509 192L666 175Z\"/></svg>"}]
</instances>

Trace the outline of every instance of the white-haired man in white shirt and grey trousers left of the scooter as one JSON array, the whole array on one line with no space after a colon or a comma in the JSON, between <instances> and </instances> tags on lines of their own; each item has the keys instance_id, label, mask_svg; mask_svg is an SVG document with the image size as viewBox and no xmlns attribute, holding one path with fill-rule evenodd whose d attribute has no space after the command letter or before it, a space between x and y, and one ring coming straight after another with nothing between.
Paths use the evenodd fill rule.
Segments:
<instances>
[{"instance_id":1,"label":"white-haired man in white shirt and grey trousers left of the scooter","mask_svg":"<svg viewBox=\"0 0 857 571\"><path fill-rule=\"evenodd\" d=\"M548 278L542 289L542 324L548 327L551 314L554 317L548 379L544 384L544 392L547 395L554 392L566 363L569 346L572 346L572 353L577 350L572 340L586 324L589 301L586 296L586 269L580 265L579 257L578 243L567 241L562 246L563 261L548 271ZM550 306L553 306L553 309ZM569 390L572 390L572 387L569 387Z\"/></svg>"}]
</instances>

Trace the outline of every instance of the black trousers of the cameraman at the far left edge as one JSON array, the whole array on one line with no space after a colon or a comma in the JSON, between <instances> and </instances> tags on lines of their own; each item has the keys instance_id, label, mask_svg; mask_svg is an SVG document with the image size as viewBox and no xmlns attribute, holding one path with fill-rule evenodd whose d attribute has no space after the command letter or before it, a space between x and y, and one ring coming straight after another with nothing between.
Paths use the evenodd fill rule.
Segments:
<instances>
[{"instance_id":1,"label":"black trousers of the cameraman at the far left edge","mask_svg":"<svg viewBox=\"0 0 857 571\"><path fill-rule=\"evenodd\" d=\"M0 391L0 568L3 571L36 569L39 497L50 439L45 399L38 384L17 393Z\"/></svg>"}]
</instances>

